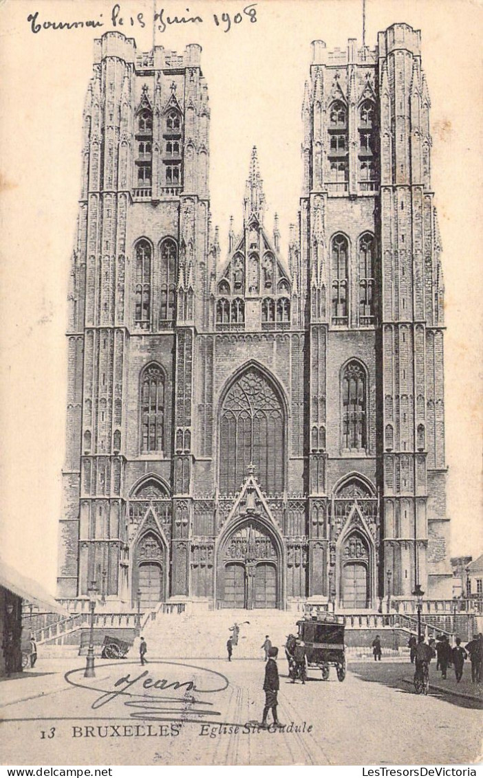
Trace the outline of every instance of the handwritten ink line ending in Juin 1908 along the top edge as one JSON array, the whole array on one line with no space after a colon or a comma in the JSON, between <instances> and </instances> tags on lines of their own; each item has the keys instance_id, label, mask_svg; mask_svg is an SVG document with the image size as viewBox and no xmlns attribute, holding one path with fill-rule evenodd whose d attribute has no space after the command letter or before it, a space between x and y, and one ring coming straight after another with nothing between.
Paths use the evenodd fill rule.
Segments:
<instances>
[{"instance_id":1,"label":"handwritten ink line ending in Juin 1908 along the top edge","mask_svg":"<svg viewBox=\"0 0 483 778\"><path fill-rule=\"evenodd\" d=\"M257 21L256 16L256 3L245 5L240 11L231 16L228 12L213 13L213 23L220 27L224 33L231 30L232 26L238 26L244 19L251 23ZM51 21L50 19L39 18L39 12L30 13L27 16L27 22L30 23L30 30L33 33L40 33L41 30L79 30L83 27L93 27L95 29L104 26L112 26L117 29L125 29L127 27L146 27L149 23L145 15L142 12L125 15L122 11L121 5L116 3L112 6L111 15L108 19L104 19L102 13L99 14L97 19L77 19L72 22L67 21ZM153 15L153 23L156 25L156 29L160 33L166 32L169 26L178 24L203 24L205 19L201 16L191 16L189 8L186 9L186 16L170 16L167 10L161 8Z\"/></svg>"}]
</instances>

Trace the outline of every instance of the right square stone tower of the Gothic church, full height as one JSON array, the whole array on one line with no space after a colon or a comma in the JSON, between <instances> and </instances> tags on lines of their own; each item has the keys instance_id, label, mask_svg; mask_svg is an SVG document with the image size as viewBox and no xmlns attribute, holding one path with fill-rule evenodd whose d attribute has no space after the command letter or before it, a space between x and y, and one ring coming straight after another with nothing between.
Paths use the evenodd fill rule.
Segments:
<instances>
[{"instance_id":1,"label":"right square stone tower of the Gothic church, full height","mask_svg":"<svg viewBox=\"0 0 483 778\"><path fill-rule=\"evenodd\" d=\"M345 607L416 584L442 596L443 287L420 33L396 24L375 50L316 40L312 54L299 273L329 587Z\"/></svg>"}]
</instances>

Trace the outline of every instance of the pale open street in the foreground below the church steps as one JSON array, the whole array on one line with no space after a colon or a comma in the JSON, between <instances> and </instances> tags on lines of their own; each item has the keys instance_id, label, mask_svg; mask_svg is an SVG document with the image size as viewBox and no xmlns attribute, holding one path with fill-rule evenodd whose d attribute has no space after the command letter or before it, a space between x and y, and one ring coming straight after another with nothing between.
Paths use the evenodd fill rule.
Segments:
<instances>
[{"instance_id":1,"label":"pale open street in the foreground below the church steps","mask_svg":"<svg viewBox=\"0 0 483 778\"><path fill-rule=\"evenodd\" d=\"M254 723L263 710L263 661L193 660L191 667L186 662L180 666L153 661L140 668L98 661L96 678L90 680L83 678L83 661L44 660L23 677L5 680L0 684L3 761L19 765L478 761L481 700L454 696L452 679L450 693L416 696L409 664L352 664L344 683L337 682L333 672L323 682L319 671L312 670L306 685L292 685L285 675L286 663L280 660L278 713L286 729L259 731ZM74 668L81 669L66 680L65 673ZM145 670L147 675L136 684L137 696L133 685L129 695L107 698L105 692L127 689ZM146 678L167 679L170 684L192 678L198 690L220 691L196 695L186 688L156 690L157 698L150 695L150 703L143 703ZM119 679L123 681L115 687ZM444 684L433 668L431 682L439 688ZM179 713L168 713L167 706L171 711L178 706Z\"/></svg>"}]
</instances>

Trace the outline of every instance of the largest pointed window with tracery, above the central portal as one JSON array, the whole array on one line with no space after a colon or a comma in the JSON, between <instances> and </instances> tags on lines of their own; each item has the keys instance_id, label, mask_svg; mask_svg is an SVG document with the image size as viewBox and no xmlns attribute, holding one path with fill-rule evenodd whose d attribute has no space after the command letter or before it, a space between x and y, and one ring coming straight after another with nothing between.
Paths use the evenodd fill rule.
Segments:
<instances>
[{"instance_id":1,"label":"largest pointed window with tracery, above the central portal","mask_svg":"<svg viewBox=\"0 0 483 778\"><path fill-rule=\"evenodd\" d=\"M261 371L250 368L231 386L220 415L220 492L238 492L249 464L262 489L284 489L284 406Z\"/></svg>"}]
</instances>

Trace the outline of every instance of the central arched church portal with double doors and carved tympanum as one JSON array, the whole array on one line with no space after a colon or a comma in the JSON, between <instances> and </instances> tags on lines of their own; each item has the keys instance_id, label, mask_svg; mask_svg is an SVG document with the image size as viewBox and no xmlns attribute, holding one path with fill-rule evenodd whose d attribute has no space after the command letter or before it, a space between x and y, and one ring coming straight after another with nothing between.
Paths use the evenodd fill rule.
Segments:
<instances>
[{"instance_id":1,"label":"central arched church portal with double doors and carved tympanum","mask_svg":"<svg viewBox=\"0 0 483 778\"><path fill-rule=\"evenodd\" d=\"M221 608L280 608L280 555L256 517L228 535L218 559Z\"/></svg>"}]
</instances>

